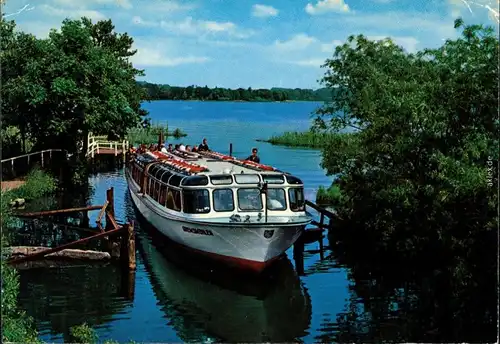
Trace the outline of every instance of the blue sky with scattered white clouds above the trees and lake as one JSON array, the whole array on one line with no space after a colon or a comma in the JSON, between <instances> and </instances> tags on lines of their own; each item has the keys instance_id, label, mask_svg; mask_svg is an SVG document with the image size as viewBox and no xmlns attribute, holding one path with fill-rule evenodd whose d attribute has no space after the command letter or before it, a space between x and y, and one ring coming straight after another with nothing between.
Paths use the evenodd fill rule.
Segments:
<instances>
[{"instance_id":1,"label":"blue sky with scattered white clouds above the trees and lake","mask_svg":"<svg viewBox=\"0 0 500 344\"><path fill-rule=\"evenodd\" d=\"M110 18L134 38L141 80L254 89L321 87L353 34L415 52L456 38L458 16L498 26L498 0L7 0L3 13L40 38L66 17Z\"/></svg>"}]
</instances>

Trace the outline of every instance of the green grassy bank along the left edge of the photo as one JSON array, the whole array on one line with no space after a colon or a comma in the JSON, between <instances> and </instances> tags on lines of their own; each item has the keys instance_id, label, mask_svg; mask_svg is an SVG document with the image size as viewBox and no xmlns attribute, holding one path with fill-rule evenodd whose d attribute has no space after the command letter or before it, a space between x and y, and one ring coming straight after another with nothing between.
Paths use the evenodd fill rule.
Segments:
<instances>
[{"instance_id":1,"label":"green grassy bank along the left edge of the photo","mask_svg":"<svg viewBox=\"0 0 500 344\"><path fill-rule=\"evenodd\" d=\"M54 192L54 178L41 170L32 170L26 183L19 188L1 193L0 221L2 226L2 341L16 343L39 343L32 319L18 308L19 276L17 271L5 262L8 248L8 227L12 213L9 203L16 198L24 198L27 202ZM7 231L6 231L7 229Z\"/></svg>"}]
</instances>

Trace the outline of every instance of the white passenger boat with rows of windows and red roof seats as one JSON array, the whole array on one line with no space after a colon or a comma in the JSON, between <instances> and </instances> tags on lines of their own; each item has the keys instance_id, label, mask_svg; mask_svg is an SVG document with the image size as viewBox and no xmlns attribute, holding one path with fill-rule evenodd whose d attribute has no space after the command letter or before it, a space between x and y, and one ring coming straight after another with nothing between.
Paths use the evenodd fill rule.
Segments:
<instances>
[{"instance_id":1,"label":"white passenger boat with rows of windows and red roof seats","mask_svg":"<svg viewBox=\"0 0 500 344\"><path fill-rule=\"evenodd\" d=\"M139 212L170 240L260 272L311 222L299 178L216 152L181 154L136 155L126 172Z\"/></svg>"}]
</instances>

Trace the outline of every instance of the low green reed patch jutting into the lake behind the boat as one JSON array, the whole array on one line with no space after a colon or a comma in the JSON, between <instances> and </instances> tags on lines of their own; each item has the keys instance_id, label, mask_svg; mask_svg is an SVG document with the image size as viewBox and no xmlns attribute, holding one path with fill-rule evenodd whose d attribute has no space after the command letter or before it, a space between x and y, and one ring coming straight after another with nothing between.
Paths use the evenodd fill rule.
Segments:
<instances>
[{"instance_id":1,"label":"low green reed patch jutting into the lake behind the boat","mask_svg":"<svg viewBox=\"0 0 500 344\"><path fill-rule=\"evenodd\" d=\"M317 133L309 131L287 131L278 136L272 136L267 140L257 140L259 142L268 142L273 145L282 145L287 147L307 147L322 148L330 142L332 134Z\"/></svg>"}]
</instances>

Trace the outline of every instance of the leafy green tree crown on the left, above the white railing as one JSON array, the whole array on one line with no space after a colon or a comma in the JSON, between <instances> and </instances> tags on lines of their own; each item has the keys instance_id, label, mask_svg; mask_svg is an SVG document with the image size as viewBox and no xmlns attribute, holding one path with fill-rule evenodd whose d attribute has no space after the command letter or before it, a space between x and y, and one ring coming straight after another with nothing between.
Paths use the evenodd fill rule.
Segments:
<instances>
[{"instance_id":1,"label":"leafy green tree crown on the left, above the white railing","mask_svg":"<svg viewBox=\"0 0 500 344\"><path fill-rule=\"evenodd\" d=\"M89 131L124 137L146 112L128 60L133 40L111 20L63 21L47 39L1 21L3 126L13 125L38 148L77 150Z\"/></svg>"}]
</instances>

